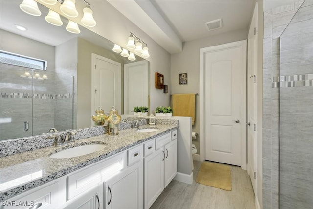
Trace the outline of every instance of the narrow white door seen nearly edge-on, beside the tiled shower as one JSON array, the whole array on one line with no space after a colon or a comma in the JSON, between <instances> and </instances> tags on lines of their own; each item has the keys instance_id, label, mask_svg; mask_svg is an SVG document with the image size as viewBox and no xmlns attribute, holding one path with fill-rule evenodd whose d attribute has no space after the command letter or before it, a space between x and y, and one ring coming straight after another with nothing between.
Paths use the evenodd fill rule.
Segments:
<instances>
[{"instance_id":1,"label":"narrow white door seen nearly edge-on, beside the tiled shower","mask_svg":"<svg viewBox=\"0 0 313 209\"><path fill-rule=\"evenodd\" d=\"M254 193L256 193L256 121L257 121L257 6L248 34L248 174L250 175Z\"/></svg>"}]
</instances>

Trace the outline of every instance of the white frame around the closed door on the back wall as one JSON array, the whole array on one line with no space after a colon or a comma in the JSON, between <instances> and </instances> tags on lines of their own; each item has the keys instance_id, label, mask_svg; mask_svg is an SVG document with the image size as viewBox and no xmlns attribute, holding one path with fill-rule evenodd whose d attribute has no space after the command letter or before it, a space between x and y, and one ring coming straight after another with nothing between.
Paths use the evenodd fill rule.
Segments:
<instances>
[{"instance_id":1,"label":"white frame around the closed door on the back wall","mask_svg":"<svg viewBox=\"0 0 313 209\"><path fill-rule=\"evenodd\" d=\"M204 118L204 113L205 113L205 108L204 108L204 95L205 95L205 91L204 91L204 83L205 83L205 76L204 76L204 56L207 52L212 52L215 50L221 50L221 49L227 49L227 48L231 48L231 47L238 47L240 46L242 48L242 53L243 53L243 63L246 63L246 40L242 40L242 41L237 41L237 42L232 42L232 43L227 43L227 44L222 44L222 45L218 45L218 46L210 46L210 47L206 47L206 48L201 48L200 49L200 89L199 89L199 106L200 106L200 161L204 161L205 159L205 140L204 140L204 136L205 136L205 118ZM246 65L245 65L246 68ZM246 69L245 69L246 71ZM242 123L240 123L241 125L241 132L242 132L242 139L241 139L241 168L246 170L247 169L247 163L246 163L246 158L247 158L247 152L246 152L246 79L244 79L245 83L244 83L244 91L245 91L245 96L244 98L242 98L242 106L241 106L241 118L244 118L244 121Z\"/></svg>"}]
</instances>

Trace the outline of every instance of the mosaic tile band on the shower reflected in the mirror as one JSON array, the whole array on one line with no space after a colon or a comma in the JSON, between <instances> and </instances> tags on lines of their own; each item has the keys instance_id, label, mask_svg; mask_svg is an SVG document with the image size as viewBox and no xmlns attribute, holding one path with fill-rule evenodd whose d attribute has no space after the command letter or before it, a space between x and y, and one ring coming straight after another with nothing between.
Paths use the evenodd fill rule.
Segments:
<instances>
[{"instance_id":1,"label":"mosaic tile band on the shower reflected in the mirror","mask_svg":"<svg viewBox=\"0 0 313 209\"><path fill-rule=\"evenodd\" d=\"M39 93L7 93L1 92L1 98L23 98L23 99L70 99L75 98L75 94L39 94Z\"/></svg>"}]
</instances>

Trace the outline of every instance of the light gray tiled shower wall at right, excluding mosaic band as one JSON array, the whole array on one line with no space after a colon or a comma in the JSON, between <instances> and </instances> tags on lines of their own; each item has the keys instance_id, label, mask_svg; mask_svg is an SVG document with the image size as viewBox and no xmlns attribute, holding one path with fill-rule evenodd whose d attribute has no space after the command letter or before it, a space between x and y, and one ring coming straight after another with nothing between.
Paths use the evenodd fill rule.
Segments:
<instances>
[{"instance_id":1,"label":"light gray tiled shower wall at right, excluding mosaic band","mask_svg":"<svg viewBox=\"0 0 313 209\"><path fill-rule=\"evenodd\" d=\"M263 208L266 209L313 206L313 87L269 90L269 77L279 75L278 37L280 76L313 73L313 3L304 2L296 13L302 2L264 13Z\"/></svg>"}]
</instances>

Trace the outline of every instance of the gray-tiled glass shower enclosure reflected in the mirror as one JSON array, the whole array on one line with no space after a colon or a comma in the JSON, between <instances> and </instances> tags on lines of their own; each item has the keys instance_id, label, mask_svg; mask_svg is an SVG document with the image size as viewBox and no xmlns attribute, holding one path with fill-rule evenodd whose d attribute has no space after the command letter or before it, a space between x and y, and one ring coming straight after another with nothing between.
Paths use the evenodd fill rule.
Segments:
<instances>
[{"instance_id":1,"label":"gray-tiled glass shower enclosure reflected in the mirror","mask_svg":"<svg viewBox=\"0 0 313 209\"><path fill-rule=\"evenodd\" d=\"M0 69L0 140L73 129L73 76L6 63Z\"/></svg>"}]
</instances>

